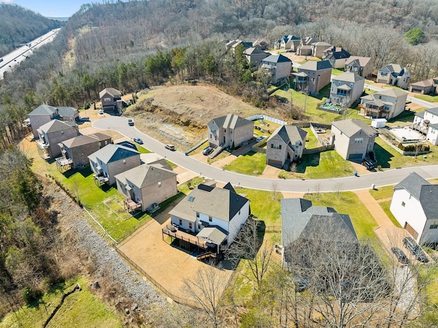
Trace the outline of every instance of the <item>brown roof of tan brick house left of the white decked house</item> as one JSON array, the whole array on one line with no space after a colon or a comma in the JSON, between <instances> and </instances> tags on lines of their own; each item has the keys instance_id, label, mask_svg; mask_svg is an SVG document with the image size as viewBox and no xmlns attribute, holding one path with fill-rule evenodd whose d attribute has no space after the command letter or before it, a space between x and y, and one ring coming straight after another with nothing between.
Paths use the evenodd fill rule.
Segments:
<instances>
[{"instance_id":1,"label":"brown roof of tan brick house left of the white decked house","mask_svg":"<svg viewBox=\"0 0 438 328\"><path fill-rule=\"evenodd\" d=\"M127 181L129 181L131 184L141 189L176 176L177 173L167 170L166 168L142 164L116 175L115 178L122 181L125 185L127 184Z\"/></svg>"}]
</instances>

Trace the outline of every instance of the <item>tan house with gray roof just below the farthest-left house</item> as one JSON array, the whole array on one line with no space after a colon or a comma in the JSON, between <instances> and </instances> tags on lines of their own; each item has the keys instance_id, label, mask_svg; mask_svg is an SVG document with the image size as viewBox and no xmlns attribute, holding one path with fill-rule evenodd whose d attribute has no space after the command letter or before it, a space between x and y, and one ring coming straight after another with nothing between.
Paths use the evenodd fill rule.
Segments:
<instances>
[{"instance_id":1,"label":"tan house with gray roof just below the farthest-left house","mask_svg":"<svg viewBox=\"0 0 438 328\"><path fill-rule=\"evenodd\" d=\"M38 153L45 159L60 155L61 149L58 145L60 142L79 136L76 123L56 119L41 125L37 131L36 145L38 146Z\"/></svg>"}]
</instances>

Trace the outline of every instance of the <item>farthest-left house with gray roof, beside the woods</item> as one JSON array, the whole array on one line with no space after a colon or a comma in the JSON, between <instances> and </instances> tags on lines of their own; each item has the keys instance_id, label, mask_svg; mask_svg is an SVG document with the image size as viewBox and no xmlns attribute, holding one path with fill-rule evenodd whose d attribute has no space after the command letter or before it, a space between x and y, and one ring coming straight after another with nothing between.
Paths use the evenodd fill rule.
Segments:
<instances>
[{"instance_id":1,"label":"farthest-left house with gray roof, beside the woods","mask_svg":"<svg viewBox=\"0 0 438 328\"><path fill-rule=\"evenodd\" d=\"M75 122L79 118L79 110L73 107L53 107L50 105L39 105L29 114L29 123L32 127L34 138L38 138L38 129L41 125L52 120Z\"/></svg>"}]
</instances>

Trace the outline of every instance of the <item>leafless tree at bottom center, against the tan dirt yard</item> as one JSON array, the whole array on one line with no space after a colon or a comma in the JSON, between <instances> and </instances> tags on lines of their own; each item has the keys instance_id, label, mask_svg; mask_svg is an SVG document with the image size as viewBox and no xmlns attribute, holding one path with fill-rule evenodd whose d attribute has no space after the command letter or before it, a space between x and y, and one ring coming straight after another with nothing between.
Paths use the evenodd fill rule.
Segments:
<instances>
[{"instance_id":1,"label":"leafless tree at bottom center, against the tan dirt yard","mask_svg":"<svg viewBox=\"0 0 438 328\"><path fill-rule=\"evenodd\" d=\"M222 326L220 314L223 310L223 303L221 297L228 284L227 279L220 275L220 270L222 270L221 266L212 264L203 266L198 270L194 279L185 281L185 289L201 305L214 328Z\"/></svg>"}]
</instances>

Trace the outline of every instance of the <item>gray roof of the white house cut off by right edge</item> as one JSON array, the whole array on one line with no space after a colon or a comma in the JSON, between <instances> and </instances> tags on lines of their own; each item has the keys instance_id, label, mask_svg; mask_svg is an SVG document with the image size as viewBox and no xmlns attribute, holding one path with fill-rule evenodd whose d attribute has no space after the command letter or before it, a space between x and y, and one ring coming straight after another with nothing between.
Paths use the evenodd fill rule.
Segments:
<instances>
[{"instance_id":1,"label":"gray roof of the white house cut off by right edge","mask_svg":"<svg viewBox=\"0 0 438 328\"><path fill-rule=\"evenodd\" d=\"M418 173L413 172L400 181L394 187L394 191L400 188L404 188L420 201L426 218L438 218L438 185L430 184Z\"/></svg>"}]
</instances>

